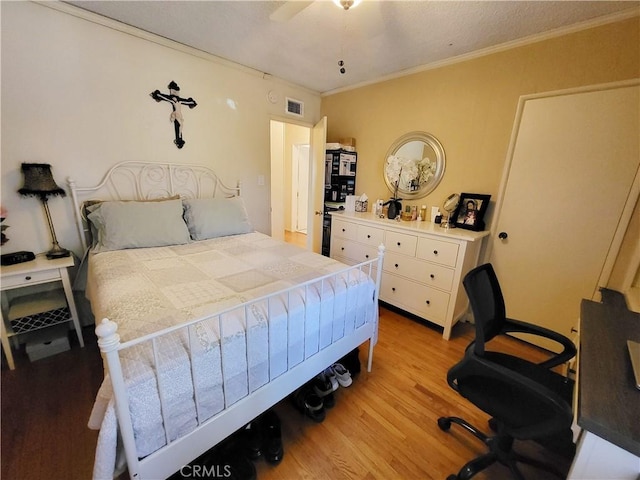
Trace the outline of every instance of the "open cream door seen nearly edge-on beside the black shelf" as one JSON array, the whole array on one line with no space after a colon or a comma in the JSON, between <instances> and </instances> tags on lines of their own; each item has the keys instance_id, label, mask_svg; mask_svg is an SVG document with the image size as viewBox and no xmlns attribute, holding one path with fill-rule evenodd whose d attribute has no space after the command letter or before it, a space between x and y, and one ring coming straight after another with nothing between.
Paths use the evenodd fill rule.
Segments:
<instances>
[{"instance_id":1,"label":"open cream door seen nearly edge-on beside the black shelf","mask_svg":"<svg viewBox=\"0 0 640 480\"><path fill-rule=\"evenodd\" d=\"M324 160L327 145L327 117L311 129L311 174L309 175L309 215L307 218L307 248L320 253L322 249L322 217L324 212Z\"/></svg>"}]
</instances>

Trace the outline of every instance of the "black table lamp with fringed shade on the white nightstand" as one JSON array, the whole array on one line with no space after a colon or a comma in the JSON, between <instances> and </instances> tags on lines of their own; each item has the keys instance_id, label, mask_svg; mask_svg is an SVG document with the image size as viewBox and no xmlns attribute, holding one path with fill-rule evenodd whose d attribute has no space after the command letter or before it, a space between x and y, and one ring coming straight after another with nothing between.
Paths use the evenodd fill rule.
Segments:
<instances>
[{"instance_id":1,"label":"black table lamp with fringed shade on the white nightstand","mask_svg":"<svg viewBox=\"0 0 640 480\"><path fill-rule=\"evenodd\" d=\"M68 257L71 254L69 250L58 245L56 231L51 221L51 213L49 213L49 197L57 195L62 197L66 196L65 191L61 189L53 179L51 165L48 163L23 163L22 174L24 175L24 186L18 190L18 193L23 196L40 197L44 213L47 217L47 223L51 231L51 240L53 242L53 247L47 252L47 258Z\"/></svg>"}]
</instances>

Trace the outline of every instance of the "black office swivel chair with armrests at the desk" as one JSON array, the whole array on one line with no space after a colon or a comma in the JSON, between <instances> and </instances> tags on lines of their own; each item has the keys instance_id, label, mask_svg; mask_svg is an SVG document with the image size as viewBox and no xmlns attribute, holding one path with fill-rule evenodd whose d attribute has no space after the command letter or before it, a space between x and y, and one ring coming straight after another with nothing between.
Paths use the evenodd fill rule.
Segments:
<instances>
[{"instance_id":1,"label":"black office swivel chair with armrests at the desk","mask_svg":"<svg viewBox=\"0 0 640 480\"><path fill-rule=\"evenodd\" d=\"M488 436L458 417L441 417L438 426L448 431L460 425L483 441L489 452L465 464L447 480L462 480L495 462L506 465L513 478L524 479L517 467L527 463L564 478L551 465L513 450L514 440L534 440L556 453L575 453L571 424L573 380L552 371L576 354L566 337L536 325L506 318L504 298L491 264L471 270L463 280L475 320L476 337L464 358L447 373L447 382L464 398L488 413L495 435ZM563 351L542 363L487 350L487 343L507 332L524 332L558 342Z\"/></svg>"}]
</instances>

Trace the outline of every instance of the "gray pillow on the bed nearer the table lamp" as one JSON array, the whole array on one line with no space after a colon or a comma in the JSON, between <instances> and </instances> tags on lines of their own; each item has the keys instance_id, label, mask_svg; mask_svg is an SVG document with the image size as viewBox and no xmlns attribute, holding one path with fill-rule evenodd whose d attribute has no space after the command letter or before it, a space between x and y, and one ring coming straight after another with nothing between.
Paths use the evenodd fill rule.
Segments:
<instances>
[{"instance_id":1,"label":"gray pillow on the bed nearer the table lamp","mask_svg":"<svg viewBox=\"0 0 640 480\"><path fill-rule=\"evenodd\" d=\"M189 243L182 201L102 202L88 207L97 230L96 251Z\"/></svg>"}]
</instances>

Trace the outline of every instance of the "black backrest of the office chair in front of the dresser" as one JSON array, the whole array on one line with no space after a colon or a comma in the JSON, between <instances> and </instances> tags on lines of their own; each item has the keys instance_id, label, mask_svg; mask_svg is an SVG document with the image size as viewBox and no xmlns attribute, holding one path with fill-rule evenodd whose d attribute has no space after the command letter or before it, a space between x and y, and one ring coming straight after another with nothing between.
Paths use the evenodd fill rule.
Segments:
<instances>
[{"instance_id":1,"label":"black backrest of the office chair in front of the dresser","mask_svg":"<svg viewBox=\"0 0 640 480\"><path fill-rule=\"evenodd\" d=\"M493 266L480 265L462 280L476 324L474 350L484 355L485 344L498 335L506 319L504 297Z\"/></svg>"}]
</instances>

